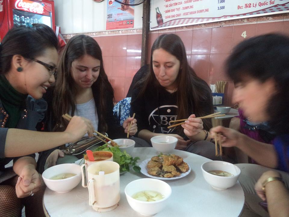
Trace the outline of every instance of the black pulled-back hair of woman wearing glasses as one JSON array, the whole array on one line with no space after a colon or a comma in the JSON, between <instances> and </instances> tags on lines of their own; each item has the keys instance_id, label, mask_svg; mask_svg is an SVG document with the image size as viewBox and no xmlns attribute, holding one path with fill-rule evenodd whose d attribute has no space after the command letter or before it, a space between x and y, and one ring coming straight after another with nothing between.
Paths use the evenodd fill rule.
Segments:
<instances>
[{"instance_id":1,"label":"black pulled-back hair of woman wearing glasses","mask_svg":"<svg viewBox=\"0 0 289 217\"><path fill-rule=\"evenodd\" d=\"M13 55L21 55L27 61L41 56L46 48L58 49L58 39L54 31L44 24L33 27L13 27L0 45L0 74L6 74L11 68Z\"/></svg>"}]
</instances>

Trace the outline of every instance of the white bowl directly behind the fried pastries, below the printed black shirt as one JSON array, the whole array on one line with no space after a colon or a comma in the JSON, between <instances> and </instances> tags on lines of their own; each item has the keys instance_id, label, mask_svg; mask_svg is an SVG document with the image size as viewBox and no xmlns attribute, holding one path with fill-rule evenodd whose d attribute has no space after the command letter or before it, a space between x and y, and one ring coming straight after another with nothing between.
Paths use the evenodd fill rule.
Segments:
<instances>
[{"instance_id":1,"label":"white bowl directly behind the fried pastries, below the printed black shirt","mask_svg":"<svg viewBox=\"0 0 289 217\"><path fill-rule=\"evenodd\" d=\"M178 139L172 136L155 136L151 138L154 149L161 153L171 153L177 145Z\"/></svg>"}]
</instances>

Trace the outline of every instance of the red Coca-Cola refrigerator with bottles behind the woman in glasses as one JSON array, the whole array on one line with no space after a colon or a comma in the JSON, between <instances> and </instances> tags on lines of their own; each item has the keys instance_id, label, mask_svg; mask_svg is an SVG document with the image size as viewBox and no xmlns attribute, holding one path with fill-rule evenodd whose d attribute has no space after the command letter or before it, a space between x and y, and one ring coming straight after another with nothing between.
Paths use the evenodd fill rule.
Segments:
<instances>
[{"instance_id":1,"label":"red Coca-Cola refrigerator with bottles behind the woman in glasses","mask_svg":"<svg viewBox=\"0 0 289 217\"><path fill-rule=\"evenodd\" d=\"M55 31L54 1L0 0L0 42L14 25L43 23Z\"/></svg>"}]
</instances>

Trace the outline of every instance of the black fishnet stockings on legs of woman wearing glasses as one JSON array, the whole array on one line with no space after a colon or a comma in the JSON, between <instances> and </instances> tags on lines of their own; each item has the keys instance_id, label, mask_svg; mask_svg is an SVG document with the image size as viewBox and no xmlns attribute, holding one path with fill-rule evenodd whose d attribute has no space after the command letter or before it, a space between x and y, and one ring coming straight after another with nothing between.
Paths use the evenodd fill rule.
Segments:
<instances>
[{"instance_id":1,"label":"black fishnet stockings on legs of woman wearing glasses","mask_svg":"<svg viewBox=\"0 0 289 217\"><path fill-rule=\"evenodd\" d=\"M33 195L25 198L17 198L15 185L18 176L15 176L0 184L0 217L19 217L22 207L25 206L26 217L44 217L42 198L45 191L45 184L42 176L39 190Z\"/></svg>"}]
</instances>

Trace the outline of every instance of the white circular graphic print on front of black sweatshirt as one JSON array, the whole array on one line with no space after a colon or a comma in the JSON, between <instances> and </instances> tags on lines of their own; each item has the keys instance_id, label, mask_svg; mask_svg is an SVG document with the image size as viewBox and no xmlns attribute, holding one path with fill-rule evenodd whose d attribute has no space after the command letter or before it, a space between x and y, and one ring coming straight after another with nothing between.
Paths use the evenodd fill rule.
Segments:
<instances>
[{"instance_id":1,"label":"white circular graphic print on front of black sweatshirt","mask_svg":"<svg viewBox=\"0 0 289 217\"><path fill-rule=\"evenodd\" d=\"M174 123L169 121L174 121L177 118L177 109L176 105L162 105L159 107L159 112L155 108L151 114L148 116L149 125L154 129L154 133L163 133L170 134L176 127L168 129L168 126L171 126ZM158 124L160 124L160 129L158 129Z\"/></svg>"}]
</instances>

